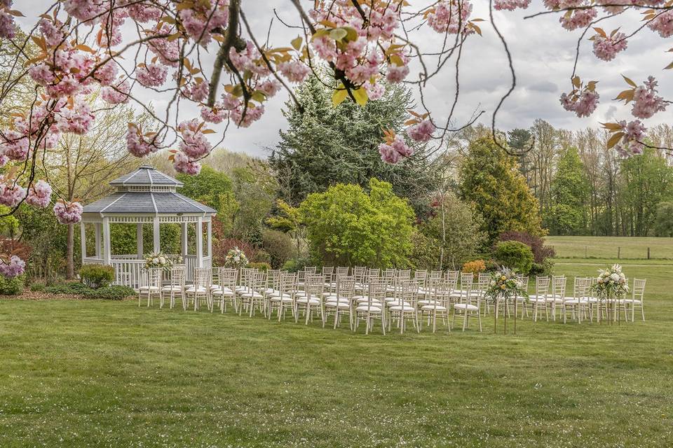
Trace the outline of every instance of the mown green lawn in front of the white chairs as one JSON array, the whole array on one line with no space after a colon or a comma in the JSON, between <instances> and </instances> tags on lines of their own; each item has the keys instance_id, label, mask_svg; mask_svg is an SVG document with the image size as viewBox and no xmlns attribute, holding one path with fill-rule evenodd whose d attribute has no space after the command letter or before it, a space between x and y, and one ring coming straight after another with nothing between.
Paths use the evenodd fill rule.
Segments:
<instances>
[{"instance_id":1,"label":"mown green lawn in front of the white chairs","mask_svg":"<svg viewBox=\"0 0 673 448\"><path fill-rule=\"evenodd\" d=\"M645 323L516 336L0 300L0 447L670 447L673 264L624 265Z\"/></svg>"}]
</instances>

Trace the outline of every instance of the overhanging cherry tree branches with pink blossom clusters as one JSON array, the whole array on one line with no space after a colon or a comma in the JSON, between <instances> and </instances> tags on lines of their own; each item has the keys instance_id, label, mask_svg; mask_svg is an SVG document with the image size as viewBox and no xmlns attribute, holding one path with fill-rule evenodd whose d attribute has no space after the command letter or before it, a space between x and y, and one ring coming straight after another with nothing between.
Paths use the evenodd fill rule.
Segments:
<instances>
[{"instance_id":1,"label":"overhanging cherry tree branches with pink blossom clusters","mask_svg":"<svg viewBox=\"0 0 673 448\"><path fill-rule=\"evenodd\" d=\"M413 118L404 135L386 130L379 146L381 158L395 163L415 157L410 140L442 151L453 132L485 113L475 112L466 123L454 124L464 44L479 38L485 26L501 41L512 81L491 111L491 132L496 144L515 151L495 132L498 111L517 78L494 10L529 8L530 0L489 0L484 18L473 13L474 0L288 1L294 6L294 18L278 20L296 30L297 36L276 42L271 27L266 36L257 36L250 26L248 15L274 19L274 11L259 1L57 0L24 30L25 38L18 38L15 18L22 13L13 9L13 0L0 0L0 38L18 52L2 80L0 105L7 106L18 83L26 78L34 83L29 106L0 130L0 165L13 166L0 177L0 204L13 213L23 201L36 207L54 203L62 223L80 220L81 204L68 202L44 179L36 179L35 166L61 134L83 135L92 128L99 111L85 99L96 88L102 89L109 107L132 103L159 123L156 130L128 124L126 143L132 155L142 158L167 149L175 169L186 174L198 174L200 161L224 141L229 127L250 127L259 120L269 98L283 90L294 99L292 86L309 73L333 89L334 104L376 101L385 89L383 78L416 87L418 109L410 111ZM543 5L545 10L526 19L554 14L560 27L578 34L569 91L560 98L561 106L578 117L590 116L601 100L598 80L583 80L578 74L583 40L590 39L596 57L608 61L627 51L637 34L673 35L670 0L543 0ZM599 27L600 22L627 14L643 20L631 20L632 29L623 31ZM442 45L426 48L418 38L423 28L436 32ZM29 52L29 43L36 46L35 52ZM214 58L205 57L207 53ZM447 116L440 121L426 105L423 92L433 78L447 75L454 77L456 88ZM643 151L641 120L669 106L658 94L653 75L644 73L643 78L641 84L625 78L629 87L616 98L630 104L633 119L604 125L612 134L609 146L621 155ZM165 100L165 109L149 108L138 97L143 90ZM186 104L198 106L200 116L185 120L179 110ZM6 272L20 270L20 263L5 258L14 263Z\"/></svg>"}]
</instances>

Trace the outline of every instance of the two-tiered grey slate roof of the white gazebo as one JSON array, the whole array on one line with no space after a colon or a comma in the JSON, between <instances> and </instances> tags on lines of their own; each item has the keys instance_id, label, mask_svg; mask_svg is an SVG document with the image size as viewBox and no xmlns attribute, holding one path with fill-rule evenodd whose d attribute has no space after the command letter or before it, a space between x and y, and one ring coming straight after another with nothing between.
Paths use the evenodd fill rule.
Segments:
<instances>
[{"instance_id":1,"label":"two-tiered grey slate roof of the white gazebo","mask_svg":"<svg viewBox=\"0 0 673 448\"><path fill-rule=\"evenodd\" d=\"M181 195L175 188L183 183L154 167L142 165L135 172L110 182L116 193L84 206L85 214L119 215L214 215L217 211Z\"/></svg>"}]
</instances>

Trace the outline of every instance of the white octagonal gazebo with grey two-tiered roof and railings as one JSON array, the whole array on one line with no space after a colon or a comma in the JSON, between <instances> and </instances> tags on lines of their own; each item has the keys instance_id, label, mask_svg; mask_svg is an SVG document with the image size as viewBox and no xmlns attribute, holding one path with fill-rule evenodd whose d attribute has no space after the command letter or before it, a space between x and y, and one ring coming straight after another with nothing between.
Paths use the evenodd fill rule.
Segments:
<instances>
[{"instance_id":1,"label":"white octagonal gazebo with grey two-tiered roof and railings","mask_svg":"<svg viewBox=\"0 0 673 448\"><path fill-rule=\"evenodd\" d=\"M215 210L177 193L182 182L158 172L154 167L140 168L110 182L111 195L84 207L81 221L82 263L100 263L114 267L115 284L139 288L147 280L143 275L144 255L162 250L161 226L179 225L180 253L186 265L186 279L193 280L196 267L212 263L212 216ZM135 224L136 253L112 253L111 225ZM151 248L143 248L143 227L151 225ZM128 230L128 229L126 229ZM132 230L131 230L132 232ZM205 235L205 239L204 239ZM87 238L94 248L87 249ZM192 252L192 253L190 253Z\"/></svg>"}]
</instances>

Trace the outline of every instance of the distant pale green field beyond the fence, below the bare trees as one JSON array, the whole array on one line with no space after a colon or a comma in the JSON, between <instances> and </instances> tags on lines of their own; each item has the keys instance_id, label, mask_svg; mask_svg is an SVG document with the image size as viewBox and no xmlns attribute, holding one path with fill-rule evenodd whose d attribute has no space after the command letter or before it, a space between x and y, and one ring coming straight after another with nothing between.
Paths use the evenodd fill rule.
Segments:
<instances>
[{"instance_id":1,"label":"distant pale green field beyond the fence, below the bare trees","mask_svg":"<svg viewBox=\"0 0 673 448\"><path fill-rule=\"evenodd\" d=\"M673 258L673 238L649 237L546 237L558 258Z\"/></svg>"}]
</instances>

